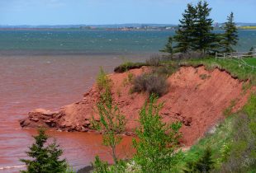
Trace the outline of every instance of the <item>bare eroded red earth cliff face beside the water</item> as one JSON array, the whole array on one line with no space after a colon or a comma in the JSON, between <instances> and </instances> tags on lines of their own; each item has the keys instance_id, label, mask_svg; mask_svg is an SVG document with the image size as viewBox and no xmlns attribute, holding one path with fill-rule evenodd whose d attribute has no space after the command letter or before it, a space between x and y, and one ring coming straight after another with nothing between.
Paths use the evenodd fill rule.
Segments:
<instances>
[{"instance_id":1,"label":"bare eroded red earth cliff face beside the water","mask_svg":"<svg viewBox=\"0 0 256 173\"><path fill-rule=\"evenodd\" d=\"M127 134L133 133L138 126L139 110L149 97L145 93L130 94L132 84L127 82L128 73L138 76L147 70L148 68L140 68L109 75L114 101L128 120ZM164 101L160 114L164 122L183 123L181 142L185 145L192 145L220 119L224 119L223 110L230 106L231 101L235 102L233 111L236 111L246 103L249 96L242 89L243 82L219 69L209 72L204 67L183 67L167 80L168 93L159 98L159 102ZM26 119L21 119L21 127L45 126L65 131L88 132L91 130L92 115L98 119L95 109L99 92L97 85L94 85L81 101L65 105L57 112L33 110Z\"/></svg>"}]
</instances>

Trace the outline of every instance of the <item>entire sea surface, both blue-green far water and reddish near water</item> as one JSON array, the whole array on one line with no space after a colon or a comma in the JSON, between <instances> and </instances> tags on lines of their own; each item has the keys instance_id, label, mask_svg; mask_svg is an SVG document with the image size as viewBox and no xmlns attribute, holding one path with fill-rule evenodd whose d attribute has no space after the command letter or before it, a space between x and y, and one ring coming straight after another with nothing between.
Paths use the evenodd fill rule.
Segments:
<instances>
[{"instance_id":1,"label":"entire sea surface, both blue-green far water and reddish near water","mask_svg":"<svg viewBox=\"0 0 256 173\"><path fill-rule=\"evenodd\" d=\"M220 32L220 31L219 31ZM95 81L100 66L112 72L126 59L143 61L157 53L173 31L1 30L0 31L0 172L17 172L33 142L33 129L18 119L30 110L58 110L79 101ZM239 31L239 51L256 46L256 30ZM109 160L95 133L49 132L64 148L64 157L79 169L95 155ZM130 138L118 149L129 157Z\"/></svg>"}]
</instances>

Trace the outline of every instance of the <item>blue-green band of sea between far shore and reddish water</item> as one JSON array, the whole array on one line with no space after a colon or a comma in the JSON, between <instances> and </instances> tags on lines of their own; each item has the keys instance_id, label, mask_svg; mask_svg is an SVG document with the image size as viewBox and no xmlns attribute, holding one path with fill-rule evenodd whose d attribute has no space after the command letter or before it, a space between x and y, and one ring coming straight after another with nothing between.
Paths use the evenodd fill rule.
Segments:
<instances>
[{"instance_id":1,"label":"blue-green band of sea between far shore and reddish water","mask_svg":"<svg viewBox=\"0 0 256 173\"><path fill-rule=\"evenodd\" d=\"M169 35L174 31L1 30L0 54L156 53ZM247 51L252 46L256 46L256 30L239 30L236 49Z\"/></svg>"}]
</instances>

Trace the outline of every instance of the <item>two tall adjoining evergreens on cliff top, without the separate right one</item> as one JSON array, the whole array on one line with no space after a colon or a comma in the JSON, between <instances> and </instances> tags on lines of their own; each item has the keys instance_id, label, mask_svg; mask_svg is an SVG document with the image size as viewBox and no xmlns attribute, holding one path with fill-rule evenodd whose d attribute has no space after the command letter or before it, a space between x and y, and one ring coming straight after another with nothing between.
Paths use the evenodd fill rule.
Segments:
<instances>
[{"instance_id":1,"label":"two tall adjoining evergreens on cliff top, without the separate right one","mask_svg":"<svg viewBox=\"0 0 256 173\"><path fill-rule=\"evenodd\" d=\"M176 45L171 49L172 52L200 51L203 54L216 52L219 38L212 32L213 20L209 17L210 12L211 8L206 1L198 2L197 6L187 4L176 35L173 36ZM165 49L173 44L173 40L168 41Z\"/></svg>"}]
</instances>

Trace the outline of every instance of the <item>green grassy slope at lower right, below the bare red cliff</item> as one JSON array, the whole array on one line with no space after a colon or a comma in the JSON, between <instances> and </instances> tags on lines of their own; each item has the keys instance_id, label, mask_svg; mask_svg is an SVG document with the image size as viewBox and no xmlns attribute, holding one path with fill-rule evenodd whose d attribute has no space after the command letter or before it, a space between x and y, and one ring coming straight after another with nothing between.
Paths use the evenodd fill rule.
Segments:
<instances>
[{"instance_id":1,"label":"green grassy slope at lower right, below the bare red cliff","mask_svg":"<svg viewBox=\"0 0 256 173\"><path fill-rule=\"evenodd\" d=\"M204 138L184 153L176 170L183 170L189 161L197 161L211 147L216 172L225 171L230 165L233 172L253 172L256 161L256 95L252 94L247 105L234 115L230 115L216 126L215 133L207 133ZM250 146L250 143L254 143ZM246 159L251 164L244 164ZM233 160L237 162L234 163ZM237 165L235 165L237 164ZM245 165L245 166L244 166ZM181 171L183 172L183 171ZM226 171L225 171L226 172Z\"/></svg>"}]
</instances>

